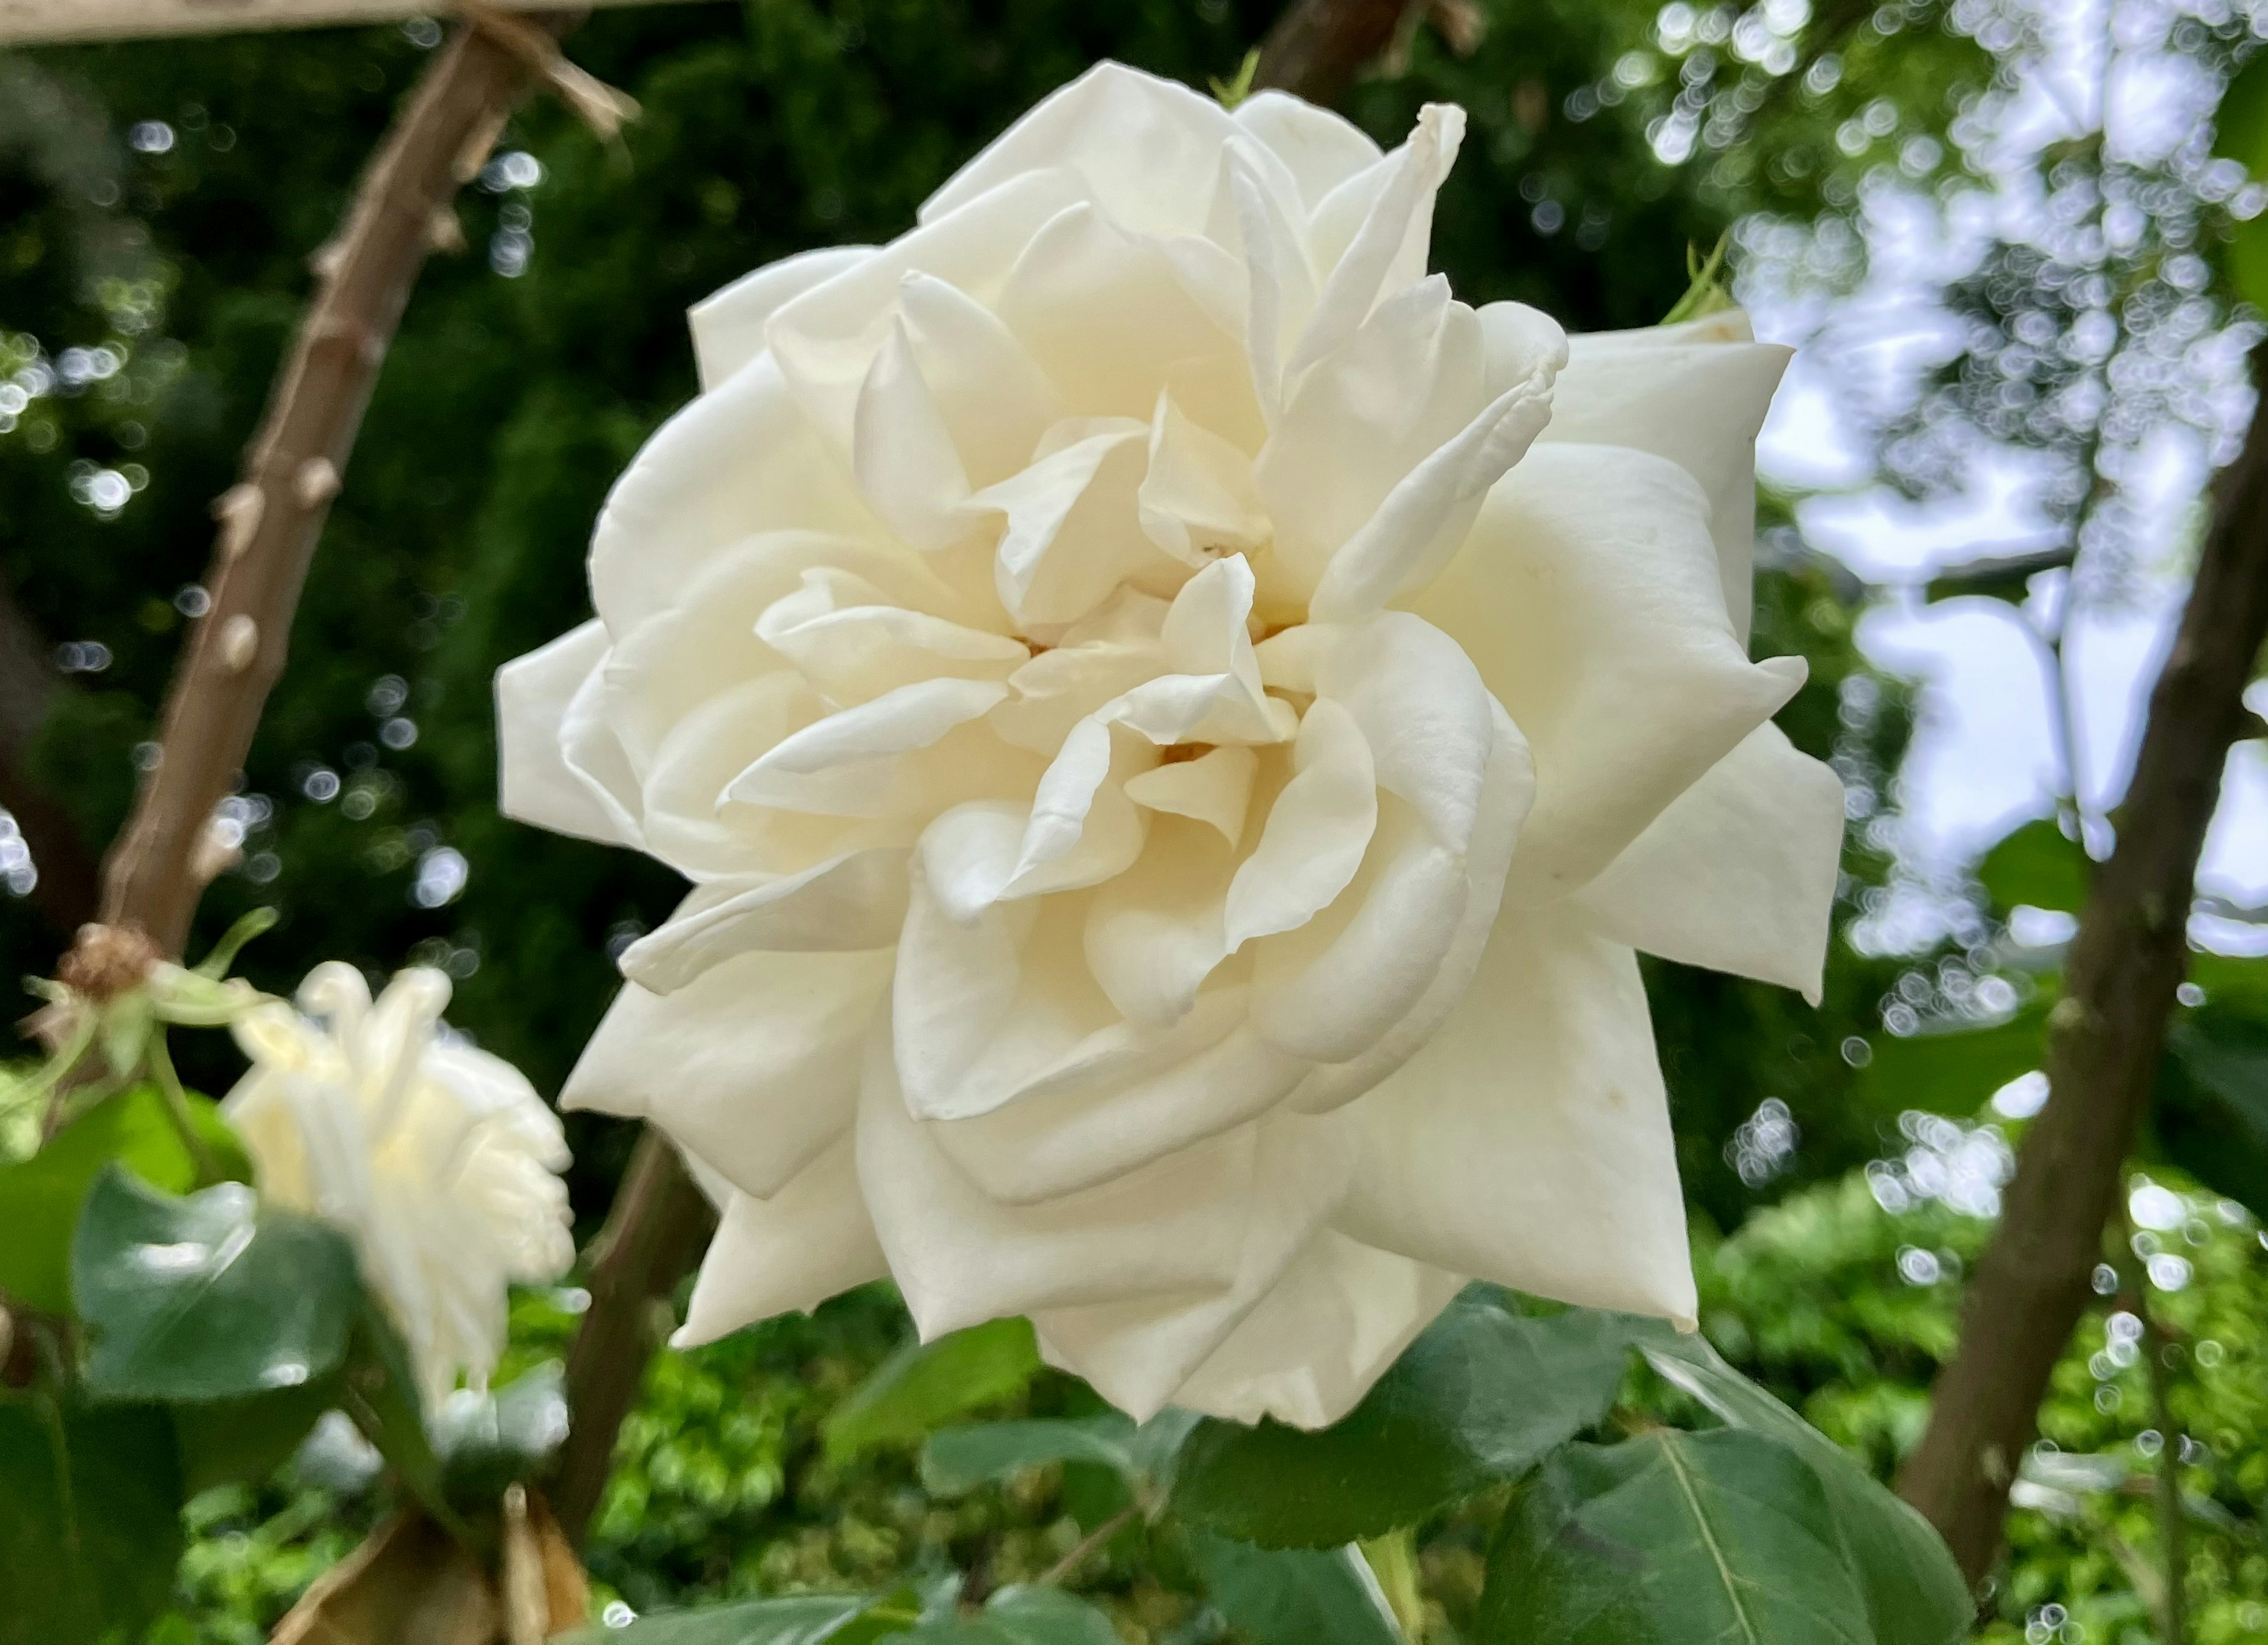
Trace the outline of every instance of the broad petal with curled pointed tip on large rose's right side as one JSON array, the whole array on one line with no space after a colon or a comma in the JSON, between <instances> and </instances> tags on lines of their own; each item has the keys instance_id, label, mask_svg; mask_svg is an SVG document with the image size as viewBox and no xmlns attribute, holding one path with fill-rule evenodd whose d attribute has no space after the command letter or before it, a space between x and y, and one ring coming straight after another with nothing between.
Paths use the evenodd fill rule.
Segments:
<instances>
[{"instance_id":1,"label":"broad petal with curled pointed tip on large rose's right side","mask_svg":"<svg viewBox=\"0 0 2268 1645\"><path fill-rule=\"evenodd\" d=\"M1585 885L1803 683L1735 638L1699 483L1626 447L1533 447L1411 606L1535 758L1513 903Z\"/></svg>"}]
</instances>

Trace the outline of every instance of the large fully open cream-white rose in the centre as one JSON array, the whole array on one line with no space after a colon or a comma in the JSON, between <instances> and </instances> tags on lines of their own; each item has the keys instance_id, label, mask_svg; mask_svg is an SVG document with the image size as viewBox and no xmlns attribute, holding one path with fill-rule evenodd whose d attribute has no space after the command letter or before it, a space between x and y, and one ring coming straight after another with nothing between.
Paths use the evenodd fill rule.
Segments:
<instances>
[{"instance_id":1,"label":"large fully open cream-white rose in the centre","mask_svg":"<svg viewBox=\"0 0 2268 1645\"><path fill-rule=\"evenodd\" d=\"M1817 989L1740 315L1427 275L1381 154L1105 64L692 313L506 812L692 880L567 1100L723 1209L680 1341L889 1275L1148 1416L1340 1416L1467 1282L1690 1318L1635 951Z\"/></svg>"}]
</instances>

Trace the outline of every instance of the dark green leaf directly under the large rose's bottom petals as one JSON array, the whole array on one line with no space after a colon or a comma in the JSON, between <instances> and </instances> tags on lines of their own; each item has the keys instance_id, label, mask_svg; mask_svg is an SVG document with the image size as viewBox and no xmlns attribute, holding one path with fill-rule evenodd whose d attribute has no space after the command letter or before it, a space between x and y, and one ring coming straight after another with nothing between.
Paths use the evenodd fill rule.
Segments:
<instances>
[{"instance_id":1,"label":"dark green leaf directly under the large rose's bottom petals","mask_svg":"<svg viewBox=\"0 0 2268 1645\"><path fill-rule=\"evenodd\" d=\"M1415 1525L1531 1468L1615 1400L1635 1334L1622 1314L1520 1318L1461 1298L1340 1423L1202 1423L1173 1507L1266 1547L1336 1547Z\"/></svg>"}]
</instances>

